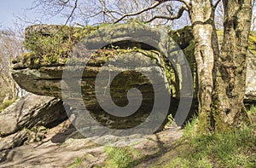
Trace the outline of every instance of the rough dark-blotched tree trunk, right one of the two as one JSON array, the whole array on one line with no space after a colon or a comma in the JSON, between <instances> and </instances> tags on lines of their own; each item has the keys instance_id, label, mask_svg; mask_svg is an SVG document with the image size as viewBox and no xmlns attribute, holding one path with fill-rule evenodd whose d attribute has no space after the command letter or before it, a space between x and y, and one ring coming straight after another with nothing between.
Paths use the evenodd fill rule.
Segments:
<instances>
[{"instance_id":1,"label":"rough dark-blotched tree trunk, right one of the two","mask_svg":"<svg viewBox=\"0 0 256 168\"><path fill-rule=\"evenodd\" d=\"M218 59L212 112L214 128L226 130L247 121L243 104L246 90L246 55L252 0L224 0L224 41Z\"/></svg>"}]
</instances>

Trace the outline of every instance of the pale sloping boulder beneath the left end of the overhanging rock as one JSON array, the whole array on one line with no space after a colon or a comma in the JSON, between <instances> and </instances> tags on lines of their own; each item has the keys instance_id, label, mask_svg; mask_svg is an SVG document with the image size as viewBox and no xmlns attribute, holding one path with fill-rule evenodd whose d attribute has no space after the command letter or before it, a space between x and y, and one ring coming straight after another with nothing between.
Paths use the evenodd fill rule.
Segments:
<instances>
[{"instance_id":1,"label":"pale sloping boulder beneath the left end of the overhanging rock","mask_svg":"<svg viewBox=\"0 0 256 168\"><path fill-rule=\"evenodd\" d=\"M60 99L26 94L0 113L0 136L9 136L24 128L51 125L67 119Z\"/></svg>"}]
</instances>

